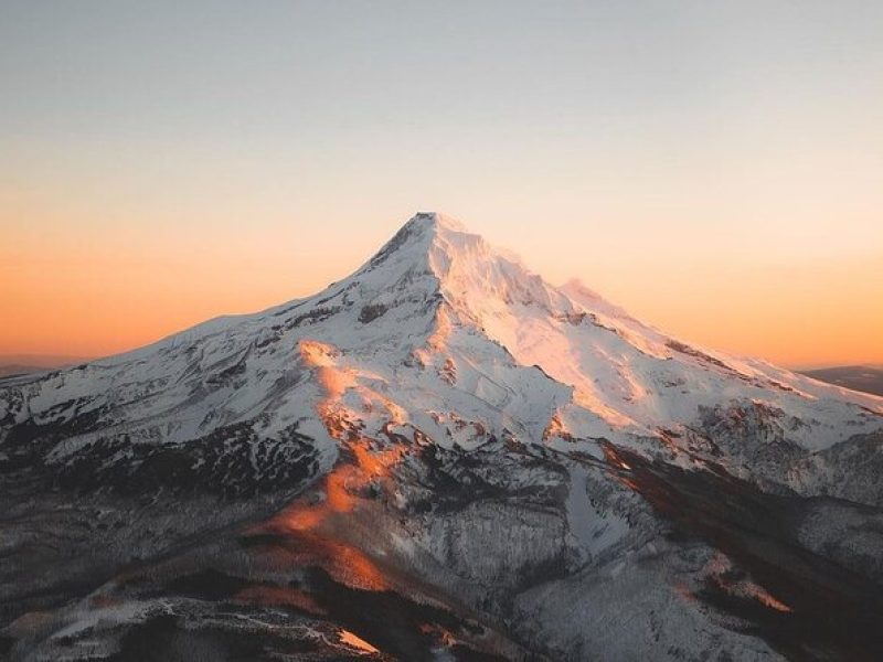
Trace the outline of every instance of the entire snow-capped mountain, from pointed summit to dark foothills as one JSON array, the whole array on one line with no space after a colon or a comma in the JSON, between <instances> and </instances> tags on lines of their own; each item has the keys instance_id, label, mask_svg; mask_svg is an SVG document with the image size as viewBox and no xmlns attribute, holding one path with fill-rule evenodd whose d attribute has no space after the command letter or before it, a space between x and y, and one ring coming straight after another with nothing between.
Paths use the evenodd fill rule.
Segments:
<instances>
[{"instance_id":1,"label":"entire snow-capped mountain, from pointed summit to dark foothills","mask_svg":"<svg viewBox=\"0 0 883 662\"><path fill-rule=\"evenodd\" d=\"M438 214L256 314L0 380L11 659L879 659L883 398Z\"/></svg>"}]
</instances>

